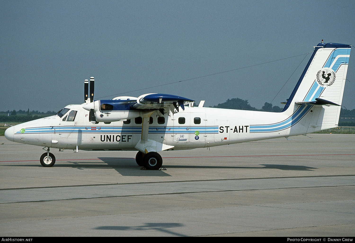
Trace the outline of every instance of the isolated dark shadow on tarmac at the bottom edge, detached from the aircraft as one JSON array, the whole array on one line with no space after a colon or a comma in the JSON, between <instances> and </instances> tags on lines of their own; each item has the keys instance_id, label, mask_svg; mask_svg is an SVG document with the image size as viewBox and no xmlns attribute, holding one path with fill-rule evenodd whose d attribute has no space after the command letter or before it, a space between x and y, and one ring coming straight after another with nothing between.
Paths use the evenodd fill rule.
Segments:
<instances>
[{"instance_id":1,"label":"isolated dark shadow on tarmac at the bottom edge, detached from the aircraft","mask_svg":"<svg viewBox=\"0 0 355 243\"><path fill-rule=\"evenodd\" d=\"M168 233L174 236L187 236L171 231L171 228L182 227L182 223L145 223L141 226L100 226L94 229L104 230L116 230L116 231L143 231L143 230L155 230L164 233Z\"/></svg>"}]
</instances>

